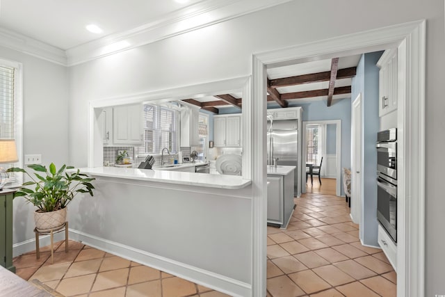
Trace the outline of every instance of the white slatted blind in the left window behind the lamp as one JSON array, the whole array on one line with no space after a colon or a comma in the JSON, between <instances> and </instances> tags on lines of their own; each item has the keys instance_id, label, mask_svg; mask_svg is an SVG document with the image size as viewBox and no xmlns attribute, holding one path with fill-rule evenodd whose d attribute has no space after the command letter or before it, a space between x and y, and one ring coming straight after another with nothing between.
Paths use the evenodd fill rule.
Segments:
<instances>
[{"instance_id":1,"label":"white slatted blind in the left window behind the lamp","mask_svg":"<svg viewBox=\"0 0 445 297\"><path fill-rule=\"evenodd\" d=\"M0 138L14 138L15 68L0 65Z\"/></svg>"}]
</instances>

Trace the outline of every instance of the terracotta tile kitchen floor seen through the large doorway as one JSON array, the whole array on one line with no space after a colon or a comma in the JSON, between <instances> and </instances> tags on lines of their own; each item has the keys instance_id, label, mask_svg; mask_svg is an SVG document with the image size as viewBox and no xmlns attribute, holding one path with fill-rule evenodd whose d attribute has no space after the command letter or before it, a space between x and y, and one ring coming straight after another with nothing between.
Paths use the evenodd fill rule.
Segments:
<instances>
[{"instance_id":1,"label":"terracotta tile kitchen floor seen through the large doorway","mask_svg":"<svg viewBox=\"0 0 445 297\"><path fill-rule=\"evenodd\" d=\"M296 198L287 230L268 226L268 296L396 296L396 273L382 250L362 246L344 198Z\"/></svg>"}]
</instances>

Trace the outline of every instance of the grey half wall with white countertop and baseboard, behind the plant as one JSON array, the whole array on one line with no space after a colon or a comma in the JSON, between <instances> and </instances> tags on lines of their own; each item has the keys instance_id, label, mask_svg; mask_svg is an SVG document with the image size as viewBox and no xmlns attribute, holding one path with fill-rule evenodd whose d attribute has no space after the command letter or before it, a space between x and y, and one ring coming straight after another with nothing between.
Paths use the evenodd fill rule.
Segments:
<instances>
[{"instance_id":1,"label":"grey half wall with white countertop and baseboard, behind the plant","mask_svg":"<svg viewBox=\"0 0 445 297\"><path fill-rule=\"evenodd\" d=\"M252 289L252 184L232 175L79 168L94 197L69 207L70 239L230 296ZM217 255L217 256L216 256Z\"/></svg>"}]
</instances>

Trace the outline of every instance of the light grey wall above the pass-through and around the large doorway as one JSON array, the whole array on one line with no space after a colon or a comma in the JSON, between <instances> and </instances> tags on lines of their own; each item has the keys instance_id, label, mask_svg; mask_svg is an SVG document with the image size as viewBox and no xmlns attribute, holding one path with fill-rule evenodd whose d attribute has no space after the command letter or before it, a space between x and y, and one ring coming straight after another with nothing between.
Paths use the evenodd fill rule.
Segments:
<instances>
[{"instance_id":1,"label":"light grey wall above the pass-through and around the large doorway","mask_svg":"<svg viewBox=\"0 0 445 297\"><path fill-rule=\"evenodd\" d=\"M333 17L334 16L334 17ZM70 153L86 165L88 100L250 74L251 54L391 24L427 19L426 294L444 294L442 135L444 1L292 1L70 69Z\"/></svg>"}]
</instances>

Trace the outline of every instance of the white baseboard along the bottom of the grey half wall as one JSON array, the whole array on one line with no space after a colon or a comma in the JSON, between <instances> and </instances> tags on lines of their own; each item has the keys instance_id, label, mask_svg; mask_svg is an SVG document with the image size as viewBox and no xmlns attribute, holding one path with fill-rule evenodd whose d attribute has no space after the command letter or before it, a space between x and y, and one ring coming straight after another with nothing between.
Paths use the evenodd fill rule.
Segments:
<instances>
[{"instance_id":1,"label":"white baseboard along the bottom of the grey half wall","mask_svg":"<svg viewBox=\"0 0 445 297\"><path fill-rule=\"evenodd\" d=\"M131 246L125 246L115 241L109 241L78 230L69 229L70 239L79 241L93 248L98 248L113 255L129 259L140 264L159 269L166 273L176 275L184 280L189 280L205 287L229 294L230 296L252 296L252 286L232 278L227 278L218 273L212 273L201 268L177 262L172 259L154 255L144 250L138 250Z\"/></svg>"}]
</instances>

